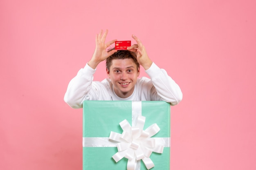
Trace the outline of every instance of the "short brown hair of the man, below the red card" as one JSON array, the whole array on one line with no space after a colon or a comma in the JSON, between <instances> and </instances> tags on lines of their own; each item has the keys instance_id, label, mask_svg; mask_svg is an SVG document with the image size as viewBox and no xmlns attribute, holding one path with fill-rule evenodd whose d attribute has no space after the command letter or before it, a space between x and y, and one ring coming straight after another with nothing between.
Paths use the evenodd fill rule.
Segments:
<instances>
[{"instance_id":1,"label":"short brown hair of the man, below the red card","mask_svg":"<svg viewBox=\"0 0 256 170\"><path fill-rule=\"evenodd\" d=\"M133 62L137 66L137 71L138 71L139 70L139 62L137 60L137 55L135 54L135 52L128 51L128 50L119 50L119 51L115 52L114 54L110 55L110 57L108 57L106 59L106 68L109 70L110 66L112 65L112 60L126 59L126 58L128 58L128 59L131 58L133 60Z\"/></svg>"}]
</instances>

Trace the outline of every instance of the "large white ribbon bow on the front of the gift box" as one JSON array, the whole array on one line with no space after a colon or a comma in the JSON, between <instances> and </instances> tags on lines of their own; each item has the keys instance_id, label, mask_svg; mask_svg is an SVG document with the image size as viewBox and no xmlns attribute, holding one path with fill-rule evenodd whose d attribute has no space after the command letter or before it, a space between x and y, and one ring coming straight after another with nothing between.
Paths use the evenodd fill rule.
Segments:
<instances>
[{"instance_id":1,"label":"large white ribbon bow on the front of the gift box","mask_svg":"<svg viewBox=\"0 0 256 170\"><path fill-rule=\"evenodd\" d=\"M127 170L135 170L137 161L144 162L146 168L149 170L155 165L149 158L152 152L163 153L164 146L157 144L157 140L150 138L159 132L160 128L157 124L152 124L146 130L143 130L146 117L138 115L135 126L130 126L125 119L119 124L124 130L122 134L117 132L110 132L109 139L118 141L118 152L112 158L118 162L123 157L128 159Z\"/></svg>"}]
</instances>

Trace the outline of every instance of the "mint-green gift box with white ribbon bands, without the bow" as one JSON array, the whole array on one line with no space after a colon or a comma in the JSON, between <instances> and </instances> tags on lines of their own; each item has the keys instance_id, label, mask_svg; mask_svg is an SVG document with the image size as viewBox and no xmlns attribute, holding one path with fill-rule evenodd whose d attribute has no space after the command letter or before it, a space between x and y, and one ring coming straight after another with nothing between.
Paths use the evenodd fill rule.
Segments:
<instances>
[{"instance_id":1,"label":"mint-green gift box with white ribbon bands, without the bow","mask_svg":"<svg viewBox=\"0 0 256 170\"><path fill-rule=\"evenodd\" d=\"M85 101L83 103L83 170L127 170L128 159L116 162L112 156L118 151L118 141L110 140L110 133L122 134L120 122L125 119L135 126L138 115L146 117L144 128L157 124L160 130L150 138L164 141L162 153L152 152L151 170L170 170L170 104L163 101ZM156 140L157 141L157 140ZM138 161L136 170L147 170Z\"/></svg>"}]
</instances>

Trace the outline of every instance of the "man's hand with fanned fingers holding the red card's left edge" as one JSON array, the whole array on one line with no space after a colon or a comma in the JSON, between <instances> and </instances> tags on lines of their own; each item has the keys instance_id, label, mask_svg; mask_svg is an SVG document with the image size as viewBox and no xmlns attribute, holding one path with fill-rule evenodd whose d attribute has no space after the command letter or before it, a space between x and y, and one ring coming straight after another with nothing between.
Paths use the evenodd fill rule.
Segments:
<instances>
[{"instance_id":1,"label":"man's hand with fanned fingers holding the red card's left edge","mask_svg":"<svg viewBox=\"0 0 256 170\"><path fill-rule=\"evenodd\" d=\"M104 33L101 30L101 32L96 35L96 48L92 55L91 60L88 62L88 65L93 69L95 69L100 62L106 60L106 58L108 58L110 55L117 52L117 50L111 50L109 52L106 51L106 49L111 44L117 41L117 40L111 40L105 44L107 35L108 35L108 30L106 30Z\"/></svg>"}]
</instances>

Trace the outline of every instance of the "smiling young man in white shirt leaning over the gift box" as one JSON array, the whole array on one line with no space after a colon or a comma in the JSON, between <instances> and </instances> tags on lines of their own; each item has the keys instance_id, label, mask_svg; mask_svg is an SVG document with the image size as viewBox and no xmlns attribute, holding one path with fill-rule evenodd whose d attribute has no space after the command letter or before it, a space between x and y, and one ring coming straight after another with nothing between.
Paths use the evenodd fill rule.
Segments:
<instances>
[{"instance_id":1,"label":"smiling young man in white shirt leaning over the gift box","mask_svg":"<svg viewBox=\"0 0 256 170\"><path fill-rule=\"evenodd\" d=\"M182 100L180 87L168 76L164 69L153 63L146 53L141 41L127 50L106 49L116 40L105 44L108 30L101 30L96 35L96 48L91 60L81 68L70 81L64 101L72 108L82 108L85 100L130 100L130 101L165 101L171 105ZM93 81L97 65L106 60L108 79ZM147 77L138 79L140 65L144 67Z\"/></svg>"}]
</instances>

